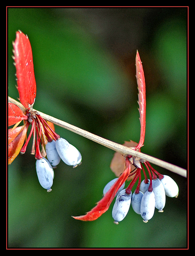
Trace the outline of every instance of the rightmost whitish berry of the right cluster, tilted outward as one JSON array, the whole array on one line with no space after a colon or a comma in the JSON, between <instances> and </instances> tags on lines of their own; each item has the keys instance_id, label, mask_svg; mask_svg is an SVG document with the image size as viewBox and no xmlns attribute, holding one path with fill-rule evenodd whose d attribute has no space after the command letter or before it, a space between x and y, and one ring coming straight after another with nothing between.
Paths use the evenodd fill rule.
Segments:
<instances>
[{"instance_id":1,"label":"rightmost whitish berry of the right cluster, tilted outward","mask_svg":"<svg viewBox=\"0 0 195 256\"><path fill-rule=\"evenodd\" d=\"M177 197L179 193L179 188L177 183L167 175L163 175L164 178L160 179L162 185L164 186L164 191L166 196Z\"/></svg>"}]
</instances>

